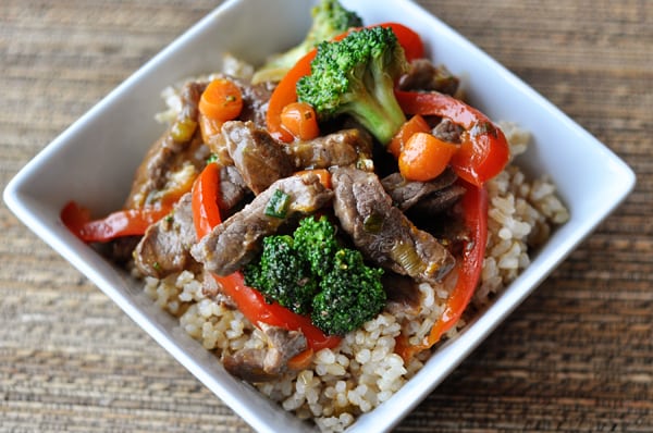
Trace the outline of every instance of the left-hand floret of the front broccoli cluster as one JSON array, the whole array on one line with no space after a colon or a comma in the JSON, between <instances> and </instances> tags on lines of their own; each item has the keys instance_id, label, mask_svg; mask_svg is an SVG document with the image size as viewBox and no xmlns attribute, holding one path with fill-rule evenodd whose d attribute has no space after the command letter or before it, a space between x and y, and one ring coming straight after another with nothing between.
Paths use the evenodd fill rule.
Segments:
<instances>
[{"instance_id":1,"label":"left-hand floret of the front broccoli cluster","mask_svg":"<svg viewBox=\"0 0 653 433\"><path fill-rule=\"evenodd\" d=\"M256 287L269 301L275 300L298 314L307 314L318 282L293 244L288 235L266 237L260 258L244 270L245 284Z\"/></svg>"}]
</instances>

